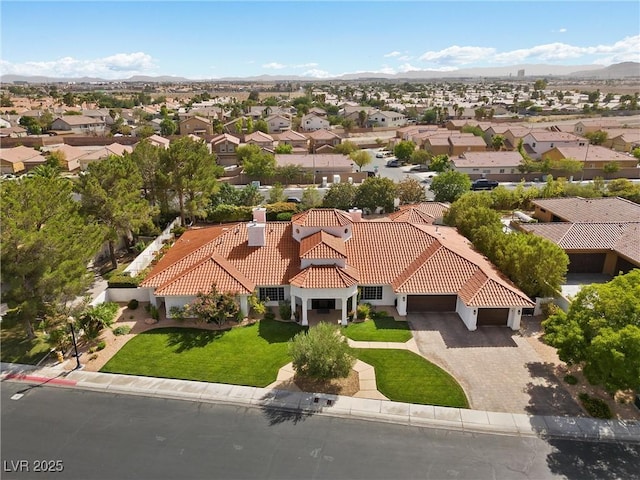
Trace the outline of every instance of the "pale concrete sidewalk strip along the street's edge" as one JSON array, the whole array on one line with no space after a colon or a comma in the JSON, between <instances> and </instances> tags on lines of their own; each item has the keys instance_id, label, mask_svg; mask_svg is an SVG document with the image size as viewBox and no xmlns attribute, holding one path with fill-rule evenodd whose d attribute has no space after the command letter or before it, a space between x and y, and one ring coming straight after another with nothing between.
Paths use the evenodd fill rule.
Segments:
<instances>
[{"instance_id":1,"label":"pale concrete sidewalk strip along the street's edge","mask_svg":"<svg viewBox=\"0 0 640 480\"><path fill-rule=\"evenodd\" d=\"M0 364L0 379L125 395L277 408L301 415L328 415L464 432L640 443L640 422L635 421L486 412L188 380L83 370L69 372L56 367L36 368L10 363Z\"/></svg>"}]
</instances>

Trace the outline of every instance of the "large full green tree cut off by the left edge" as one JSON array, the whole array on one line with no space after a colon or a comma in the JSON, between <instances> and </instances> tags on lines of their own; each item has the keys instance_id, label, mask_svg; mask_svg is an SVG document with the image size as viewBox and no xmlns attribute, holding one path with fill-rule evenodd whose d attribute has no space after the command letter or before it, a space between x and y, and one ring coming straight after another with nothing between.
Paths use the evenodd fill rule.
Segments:
<instances>
[{"instance_id":1,"label":"large full green tree cut off by the left edge","mask_svg":"<svg viewBox=\"0 0 640 480\"><path fill-rule=\"evenodd\" d=\"M31 322L49 306L81 295L91 283L87 265L103 231L80 215L72 184L62 178L4 182L0 199L2 301L33 337Z\"/></svg>"}]
</instances>

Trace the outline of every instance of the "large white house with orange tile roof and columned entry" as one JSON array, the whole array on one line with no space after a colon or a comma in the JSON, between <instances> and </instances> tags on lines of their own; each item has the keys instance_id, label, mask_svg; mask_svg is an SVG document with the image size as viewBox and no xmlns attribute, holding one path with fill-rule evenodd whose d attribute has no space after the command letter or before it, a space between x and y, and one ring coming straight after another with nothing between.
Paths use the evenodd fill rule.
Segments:
<instances>
[{"instance_id":1,"label":"large white house with orange tile roof and columned entry","mask_svg":"<svg viewBox=\"0 0 640 480\"><path fill-rule=\"evenodd\" d=\"M467 329L520 327L533 303L454 228L363 221L362 212L312 209L290 222L253 221L185 232L141 283L153 305L184 307L211 286L236 296L243 314L256 294L267 305L338 310L347 324L358 302L414 312L457 312Z\"/></svg>"}]
</instances>

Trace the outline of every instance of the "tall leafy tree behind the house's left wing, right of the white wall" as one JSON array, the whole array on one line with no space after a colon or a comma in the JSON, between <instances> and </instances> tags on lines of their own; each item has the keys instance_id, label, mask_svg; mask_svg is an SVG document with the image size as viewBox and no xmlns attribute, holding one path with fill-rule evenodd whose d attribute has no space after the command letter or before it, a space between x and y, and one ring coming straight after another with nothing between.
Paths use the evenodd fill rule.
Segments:
<instances>
[{"instance_id":1,"label":"tall leafy tree behind the house's left wing, right of the white wall","mask_svg":"<svg viewBox=\"0 0 640 480\"><path fill-rule=\"evenodd\" d=\"M180 137L161 153L162 181L178 198L180 218L202 216L222 167L202 140Z\"/></svg>"}]
</instances>

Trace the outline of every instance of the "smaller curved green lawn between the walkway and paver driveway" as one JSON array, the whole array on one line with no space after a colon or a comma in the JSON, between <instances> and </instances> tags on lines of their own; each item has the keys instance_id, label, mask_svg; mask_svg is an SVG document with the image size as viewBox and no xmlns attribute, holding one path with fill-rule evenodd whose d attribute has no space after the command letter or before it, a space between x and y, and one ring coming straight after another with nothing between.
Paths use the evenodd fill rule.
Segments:
<instances>
[{"instance_id":1,"label":"smaller curved green lawn between the walkway and paver driveway","mask_svg":"<svg viewBox=\"0 0 640 480\"><path fill-rule=\"evenodd\" d=\"M376 370L378 390L396 402L469 408L462 387L447 372L408 350L355 349Z\"/></svg>"}]
</instances>

